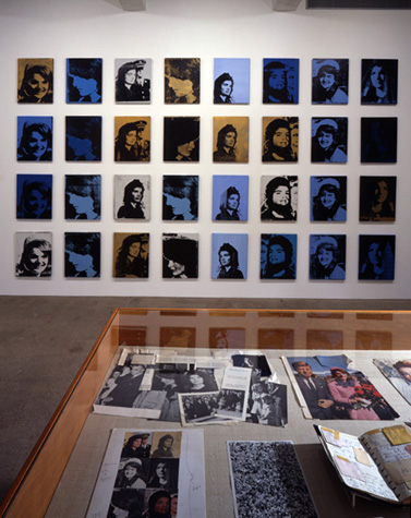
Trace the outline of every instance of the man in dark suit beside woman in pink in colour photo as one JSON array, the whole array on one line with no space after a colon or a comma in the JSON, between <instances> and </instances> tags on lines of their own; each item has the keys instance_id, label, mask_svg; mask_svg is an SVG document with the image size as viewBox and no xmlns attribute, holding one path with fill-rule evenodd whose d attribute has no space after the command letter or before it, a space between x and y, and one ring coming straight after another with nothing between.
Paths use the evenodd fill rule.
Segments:
<instances>
[{"instance_id":1,"label":"man in dark suit beside woman in pink in colour photo","mask_svg":"<svg viewBox=\"0 0 411 518\"><path fill-rule=\"evenodd\" d=\"M306 362L293 362L295 380L314 419L334 419L334 400L327 382L313 373Z\"/></svg>"}]
</instances>

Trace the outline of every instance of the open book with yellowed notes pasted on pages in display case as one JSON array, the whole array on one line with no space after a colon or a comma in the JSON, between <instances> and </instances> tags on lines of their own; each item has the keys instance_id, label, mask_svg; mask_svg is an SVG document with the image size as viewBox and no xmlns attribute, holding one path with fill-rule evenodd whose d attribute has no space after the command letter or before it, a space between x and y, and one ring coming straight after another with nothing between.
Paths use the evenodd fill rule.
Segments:
<instances>
[{"instance_id":1,"label":"open book with yellowed notes pasted on pages in display case","mask_svg":"<svg viewBox=\"0 0 411 518\"><path fill-rule=\"evenodd\" d=\"M360 437L314 425L342 482L355 495L411 503L411 429L397 424Z\"/></svg>"}]
</instances>

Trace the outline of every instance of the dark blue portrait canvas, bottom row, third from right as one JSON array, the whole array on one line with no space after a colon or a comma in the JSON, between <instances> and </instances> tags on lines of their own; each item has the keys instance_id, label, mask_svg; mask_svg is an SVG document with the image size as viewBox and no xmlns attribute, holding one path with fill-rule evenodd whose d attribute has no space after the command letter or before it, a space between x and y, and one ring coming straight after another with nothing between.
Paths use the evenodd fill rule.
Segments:
<instances>
[{"instance_id":1,"label":"dark blue portrait canvas, bottom row, third from right","mask_svg":"<svg viewBox=\"0 0 411 518\"><path fill-rule=\"evenodd\" d=\"M297 233L262 233L259 278L297 278Z\"/></svg>"}]
</instances>

